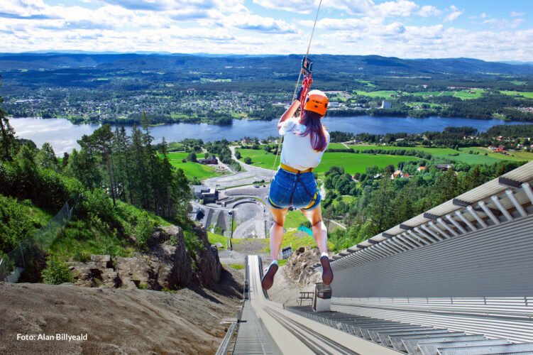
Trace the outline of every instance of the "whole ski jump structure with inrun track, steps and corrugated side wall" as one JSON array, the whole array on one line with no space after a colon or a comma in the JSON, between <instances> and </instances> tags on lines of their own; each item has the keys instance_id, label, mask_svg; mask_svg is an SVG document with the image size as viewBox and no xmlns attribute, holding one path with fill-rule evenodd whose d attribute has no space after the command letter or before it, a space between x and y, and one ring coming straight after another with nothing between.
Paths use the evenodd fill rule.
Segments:
<instances>
[{"instance_id":1,"label":"whole ski jump structure with inrun track, steps and corrugated side wall","mask_svg":"<svg viewBox=\"0 0 533 355\"><path fill-rule=\"evenodd\" d=\"M219 354L533 354L532 182L533 162L331 257L331 312L268 300L248 256Z\"/></svg>"}]
</instances>

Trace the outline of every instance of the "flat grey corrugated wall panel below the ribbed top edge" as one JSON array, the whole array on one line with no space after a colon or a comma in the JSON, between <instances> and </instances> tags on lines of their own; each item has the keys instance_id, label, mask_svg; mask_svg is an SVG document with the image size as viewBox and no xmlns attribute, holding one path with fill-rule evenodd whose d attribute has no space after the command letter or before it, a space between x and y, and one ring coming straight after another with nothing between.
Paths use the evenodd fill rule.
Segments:
<instances>
[{"instance_id":1,"label":"flat grey corrugated wall panel below the ribbed top edge","mask_svg":"<svg viewBox=\"0 0 533 355\"><path fill-rule=\"evenodd\" d=\"M397 255L332 263L336 297L533 295L533 217Z\"/></svg>"}]
</instances>

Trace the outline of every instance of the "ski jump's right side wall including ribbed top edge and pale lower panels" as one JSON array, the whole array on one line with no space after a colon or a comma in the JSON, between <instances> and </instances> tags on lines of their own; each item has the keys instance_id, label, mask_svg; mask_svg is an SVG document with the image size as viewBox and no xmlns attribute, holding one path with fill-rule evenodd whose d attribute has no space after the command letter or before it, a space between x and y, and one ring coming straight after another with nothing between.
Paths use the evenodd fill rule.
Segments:
<instances>
[{"instance_id":1,"label":"ski jump's right side wall including ribbed top edge and pale lower panels","mask_svg":"<svg viewBox=\"0 0 533 355\"><path fill-rule=\"evenodd\" d=\"M530 162L332 256L331 309L533 342L532 182Z\"/></svg>"}]
</instances>

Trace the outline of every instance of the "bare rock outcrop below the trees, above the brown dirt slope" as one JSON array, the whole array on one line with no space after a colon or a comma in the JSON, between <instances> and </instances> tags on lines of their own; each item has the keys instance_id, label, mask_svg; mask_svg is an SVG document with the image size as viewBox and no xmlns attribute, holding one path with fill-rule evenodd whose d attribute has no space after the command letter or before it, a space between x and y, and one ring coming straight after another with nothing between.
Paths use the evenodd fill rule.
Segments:
<instances>
[{"instance_id":1,"label":"bare rock outcrop below the trees, above the brown dirt slope","mask_svg":"<svg viewBox=\"0 0 533 355\"><path fill-rule=\"evenodd\" d=\"M136 253L129 258L92 255L87 263L72 262L70 268L74 271L75 284L175 290L182 286L216 283L222 270L218 251L209 244L205 229L197 227L194 233L204 246L194 253L187 251L179 226L165 226L154 231L147 253ZM191 256L195 256L194 260Z\"/></svg>"}]
</instances>

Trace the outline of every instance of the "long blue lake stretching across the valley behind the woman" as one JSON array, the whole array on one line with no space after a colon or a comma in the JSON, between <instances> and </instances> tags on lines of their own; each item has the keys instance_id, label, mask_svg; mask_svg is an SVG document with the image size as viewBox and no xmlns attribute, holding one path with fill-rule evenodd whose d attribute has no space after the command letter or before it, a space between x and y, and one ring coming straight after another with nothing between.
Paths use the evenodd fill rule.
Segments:
<instances>
[{"instance_id":1,"label":"long blue lake stretching across the valley behind the woman","mask_svg":"<svg viewBox=\"0 0 533 355\"><path fill-rule=\"evenodd\" d=\"M71 124L67 119L10 119L11 126L19 138L31 139L38 147L50 143L57 155L79 148L77 140L84 134L91 134L99 124ZM181 141L184 138L202 138L204 141L216 141L226 138L235 141L244 136L268 138L277 136L277 121L233 120L231 126L215 126L212 124L167 124L151 127L151 135L155 143L163 137L167 142ZM471 126L478 131L487 131L497 124L523 124L523 122L504 122L498 119L483 121L478 119L450 119L445 117L429 117L414 119L412 117L326 117L323 124L329 131L345 131L353 133L422 133L426 131L442 131L448 126ZM131 126L126 126L128 133Z\"/></svg>"}]
</instances>

